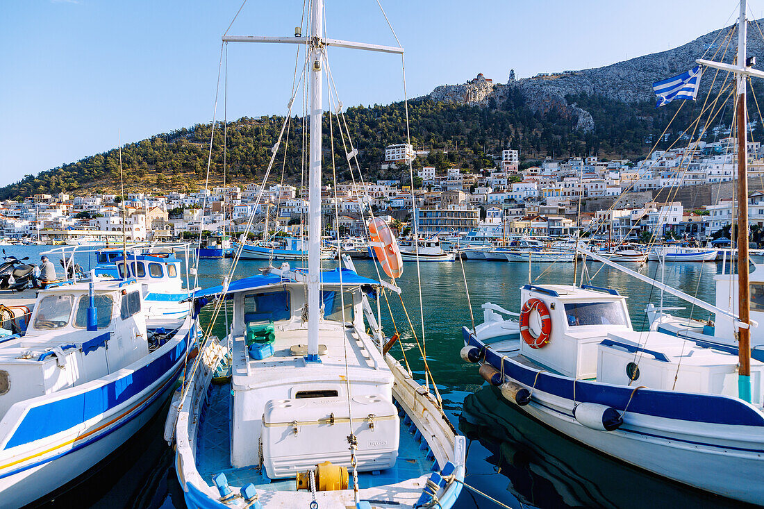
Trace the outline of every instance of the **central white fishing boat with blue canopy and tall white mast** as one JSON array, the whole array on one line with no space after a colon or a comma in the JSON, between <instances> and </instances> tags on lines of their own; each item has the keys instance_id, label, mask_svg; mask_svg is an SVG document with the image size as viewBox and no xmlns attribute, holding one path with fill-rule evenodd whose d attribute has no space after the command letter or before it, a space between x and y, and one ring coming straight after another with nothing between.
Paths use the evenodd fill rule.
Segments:
<instances>
[{"instance_id":1,"label":"central white fishing boat with blue canopy and tall white mast","mask_svg":"<svg viewBox=\"0 0 764 509\"><path fill-rule=\"evenodd\" d=\"M227 276L219 287L193 295L196 313L213 305L216 316L225 306L230 326L220 341L206 336L168 415L165 438L174 438L188 507L447 509L461 491L464 437L448 422L430 385L415 381L385 349L397 337L387 342L380 329L380 293L397 287L361 277L349 257L338 261L345 267L321 270L326 47L403 51L326 39L323 15L322 0L314 0L309 37L299 27L296 37L223 37L294 43L306 50L308 263L307 270L283 263L240 280ZM296 94L302 87L294 85ZM368 228L377 260L400 260L386 223L372 218ZM402 264L381 265L393 281L400 275ZM377 316L370 295L377 300ZM223 359L231 362L231 378L213 385Z\"/></svg>"}]
</instances>

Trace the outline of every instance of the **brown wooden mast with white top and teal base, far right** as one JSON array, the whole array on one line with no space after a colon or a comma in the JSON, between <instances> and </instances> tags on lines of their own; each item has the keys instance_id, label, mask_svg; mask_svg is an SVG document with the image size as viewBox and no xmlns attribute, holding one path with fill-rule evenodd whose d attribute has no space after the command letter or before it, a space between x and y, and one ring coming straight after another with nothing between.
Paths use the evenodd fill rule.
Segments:
<instances>
[{"instance_id":1,"label":"brown wooden mast with white top and teal base, far right","mask_svg":"<svg viewBox=\"0 0 764 509\"><path fill-rule=\"evenodd\" d=\"M737 28L737 65L746 67L746 0L740 1L740 20ZM738 396L751 400L751 347L750 347L750 302L748 286L748 143L746 140L746 75L737 74L737 277L738 277Z\"/></svg>"}]
</instances>

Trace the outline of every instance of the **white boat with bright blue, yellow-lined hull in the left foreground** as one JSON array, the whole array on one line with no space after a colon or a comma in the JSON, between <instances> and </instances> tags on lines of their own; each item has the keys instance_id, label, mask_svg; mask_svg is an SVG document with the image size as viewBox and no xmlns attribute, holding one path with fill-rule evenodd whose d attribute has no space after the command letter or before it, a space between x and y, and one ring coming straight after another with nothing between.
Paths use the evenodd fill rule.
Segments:
<instances>
[{"instance_id":1,"label":"white boat with bright blue, yellow-lined hull in the left foreground","mask_svg":"<svg viewBox=\"0 0 764 509\"><path fill-rule=\"evenodd\" d=\"M88 472L173 391L194 341L146 326L141 284L96 278L40 290L23 336L0 342L0 507Z\"/></svg>"}]
</instances>

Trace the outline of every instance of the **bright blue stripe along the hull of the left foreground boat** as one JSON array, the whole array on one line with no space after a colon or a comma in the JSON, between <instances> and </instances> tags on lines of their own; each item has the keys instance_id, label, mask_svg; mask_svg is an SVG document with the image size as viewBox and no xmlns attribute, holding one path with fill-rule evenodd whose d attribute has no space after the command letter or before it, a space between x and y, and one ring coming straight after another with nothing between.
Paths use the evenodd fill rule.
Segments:
<instances>
[{"instance_id":1,"label":"bright blue stripe along the hull of the left foreground boat","mask_svg":"<svg viewBox=\"0 0 764 509\"><path fill-rule=\"evenodd\" d=\"M30 408L4 449L69 430L140 394L146 387L163 378L178 359L183 357L187 338L186 335L186 339L178 342L175 348L124 377L82 394Z\"/></svg>"}]
</instances>

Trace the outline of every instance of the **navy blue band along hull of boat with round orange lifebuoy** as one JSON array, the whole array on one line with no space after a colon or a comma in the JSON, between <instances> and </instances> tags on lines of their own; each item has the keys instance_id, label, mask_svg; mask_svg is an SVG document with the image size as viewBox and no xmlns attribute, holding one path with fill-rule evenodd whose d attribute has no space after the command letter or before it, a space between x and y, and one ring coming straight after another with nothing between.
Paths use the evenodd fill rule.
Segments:
<instances>
[{"instance_id":1,"label":"navy blue band along hull of boat with round orange lifebuoy","mask_svg":"<svg viewBox=\"0 0 764 509\"><path fill-rule=\"evenodd\" d=\"M501 369L503 360L500 355L487 349L482 342L471 335L466 327L462 328L462 334L468 345L483 349L484 358L490 365ZM572 378L545 372L540 373L536 380L536 370L508 360L503 361L503 368L507 376L521 384L533 387L535 382L535 387L539 391L567 400L574 400L573 384L575 383L575 400L579 403L603 404L623 411L633 393L629 404L629 411L633 413L697 423L764 426L764 416L758 410L732 397L652 389L639 389L634 392L633 387L574 381Z\"/></svg>"}]
</instances>

